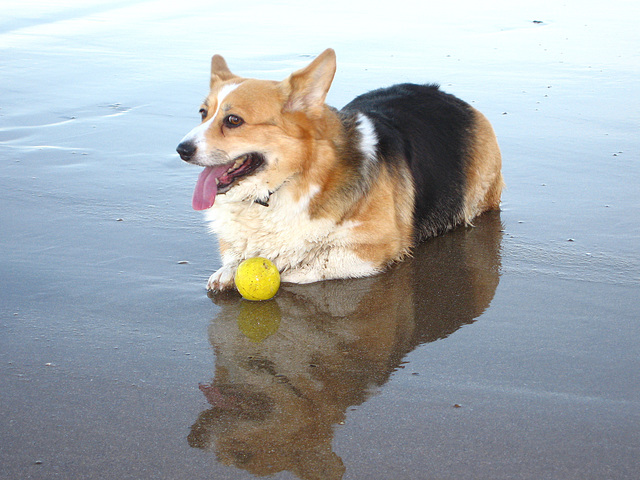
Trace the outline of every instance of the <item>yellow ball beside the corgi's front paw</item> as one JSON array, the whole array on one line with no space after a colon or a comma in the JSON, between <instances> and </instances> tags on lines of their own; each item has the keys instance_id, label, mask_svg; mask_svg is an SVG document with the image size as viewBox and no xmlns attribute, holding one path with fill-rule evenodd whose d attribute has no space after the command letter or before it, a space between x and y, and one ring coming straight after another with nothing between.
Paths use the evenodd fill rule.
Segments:
<instances>
[{"instance_id":1,"label":"yellow ball beside the corgi's front paw","mask_svg":"<svg viewBox=\"0 0 640 480\"><path fill-rule=\"evenodd\" d=\"M238 266L236 287L247 300L269 300L280 288L280 272L270 260L248 258Z\"/></svg>"}]
</instances>

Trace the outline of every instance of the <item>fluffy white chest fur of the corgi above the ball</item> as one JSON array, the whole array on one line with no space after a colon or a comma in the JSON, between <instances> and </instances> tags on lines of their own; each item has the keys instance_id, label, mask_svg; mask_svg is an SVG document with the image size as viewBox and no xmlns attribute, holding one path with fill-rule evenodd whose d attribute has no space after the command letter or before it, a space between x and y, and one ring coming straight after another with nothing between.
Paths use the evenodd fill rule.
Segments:
<instances>
[{"instance_id":1,"label":"fluffy white chest fur of the corgi above the ball","mask_svg":"<svg viewBox=\"0 0 640 480\"><path fill-rule=\"evenodd\" d=\"M374 273L374 266L356 253L356 223L309 216L309 203L317 193L318 188L312 187L295 200L282 189L270 198L268 207L218 196L206 219L225 245L223 268L263 256L276 264L283 281L309 283Z\"/></svg>"}]
</instances>

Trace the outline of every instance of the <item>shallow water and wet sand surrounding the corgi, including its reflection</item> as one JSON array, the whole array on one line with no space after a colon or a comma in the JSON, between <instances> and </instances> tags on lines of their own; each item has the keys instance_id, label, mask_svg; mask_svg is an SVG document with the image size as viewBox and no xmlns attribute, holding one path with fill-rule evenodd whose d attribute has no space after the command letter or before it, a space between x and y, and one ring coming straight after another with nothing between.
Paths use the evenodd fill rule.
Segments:
<instances>
[{"instance_id":1,"label":"shallow water and wet sand surrounding the corgi, including its reflection","mask_svg":"<svg viewBox=\"0 0 640 480\"><path fill-rule=\"evenodd\" d=\"M0 6L1 478L637 478L639 7L343 3ZM502 211L209 299L174 150L209 58L279 79L329 46L337 107L436 81L483 111Z\"/></svg>"}]
</instances>

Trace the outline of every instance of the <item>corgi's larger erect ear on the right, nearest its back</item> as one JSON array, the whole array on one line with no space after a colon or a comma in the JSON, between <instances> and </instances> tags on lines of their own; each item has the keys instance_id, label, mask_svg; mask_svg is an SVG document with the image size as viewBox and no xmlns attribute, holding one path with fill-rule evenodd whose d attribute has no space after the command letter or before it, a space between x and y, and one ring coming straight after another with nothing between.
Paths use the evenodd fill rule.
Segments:
<instances>
[{"instance_id":1,"label":"corgi's larger erect ear on the right, nearest its back","mask_svg":"<svg viewBox=\"0 0 640 480\"><path fill-rule=\"evenodd\" d=\"M336 52L328 48L302 70L291 74L283 84L289 98L286 111L320 114L336 73Z\"/></svg>"}]
</instances>

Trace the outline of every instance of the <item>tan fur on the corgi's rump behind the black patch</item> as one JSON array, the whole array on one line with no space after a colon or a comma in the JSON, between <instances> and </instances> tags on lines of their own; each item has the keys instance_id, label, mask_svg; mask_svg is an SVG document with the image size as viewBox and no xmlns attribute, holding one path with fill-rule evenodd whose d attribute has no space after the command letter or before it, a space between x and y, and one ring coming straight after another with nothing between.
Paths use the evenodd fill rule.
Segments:
<instances>
[{"instance_id":1,"label":"tan fur on the corgi's rump behind the black patch","mask_svg":"<svg viewBox=\"0 0 640 480\"><path fill-rule=\"evenodd\" d=\"M478 110L474 110L474 114L464 196L464 220L467 224L487 210L498 209L504 187L502 156L493 127Z\"/></svg>"}]
</instances>

